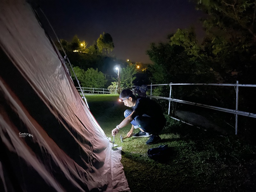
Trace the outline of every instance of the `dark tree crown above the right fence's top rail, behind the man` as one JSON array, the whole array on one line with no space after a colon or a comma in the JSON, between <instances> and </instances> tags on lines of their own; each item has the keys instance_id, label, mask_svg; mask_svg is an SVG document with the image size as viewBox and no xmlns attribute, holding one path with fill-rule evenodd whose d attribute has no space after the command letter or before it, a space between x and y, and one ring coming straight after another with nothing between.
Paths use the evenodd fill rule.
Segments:
<instances>
[{"instance_id":1,"label":"dark tree crown above the right fence's top rail, behind the man","mask_svg":"<svg viewBox=\"0 0 256 192\"><path fill-rule=\"evenodd\" d=\"M151 49L147 51L153 65L149 66L151 80L157 84L163 83L187 83L208 81L198 78L206 71L211 73L210 68L201 63L191 60L185 48L170 43L151 44Z\"/></svg>"}]
</instances>

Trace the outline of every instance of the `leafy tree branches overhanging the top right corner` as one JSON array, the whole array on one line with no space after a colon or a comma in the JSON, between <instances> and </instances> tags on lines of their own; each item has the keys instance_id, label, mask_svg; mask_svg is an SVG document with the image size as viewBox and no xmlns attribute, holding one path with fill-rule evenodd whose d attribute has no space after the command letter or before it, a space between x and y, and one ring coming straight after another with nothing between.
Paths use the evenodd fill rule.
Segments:
<instances>
[{"instance_id":1,"label":"leafy tree branches overhanging the top right corner","mask_svg":"<svg viewBox=\"0 0 256 192\"><path fill-rule=\"evenodd\" d=\"M233 28L233 31L236 30L237 32L243 31L249 33L251 34L254 43L256 42L256 2L254 0L194 1L197 3L197 9L201 9L208 13L210 15L210 20L212 20L213 23L216 23L216 26L221 28L224 27L226 29L231 26L236 27Z\"/></svg>"}]
</instances>

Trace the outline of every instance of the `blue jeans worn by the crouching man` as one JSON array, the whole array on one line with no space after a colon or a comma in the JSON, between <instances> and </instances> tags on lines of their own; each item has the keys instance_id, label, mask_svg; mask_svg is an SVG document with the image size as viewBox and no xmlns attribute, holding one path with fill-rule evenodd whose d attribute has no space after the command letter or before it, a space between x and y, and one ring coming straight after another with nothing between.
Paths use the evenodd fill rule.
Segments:
<instances>
[{"instance_id":1,"label":"blue jeans worn by the crouching man","mask_svg":"<svg viewBox=\"0 0 256 192\"><path fill-rule=\"evenodd\" d=\"M128 117L132 114L132 109L126 109L124 111L124 117ZM159 134L165 125L166 119L155 119L152 118L146 114L143 114L142 116L136 116L131 124L134 126L139 126L140 129L142 129L144 132L148 132L150 134Z\"/></svg>"}]
</instances>

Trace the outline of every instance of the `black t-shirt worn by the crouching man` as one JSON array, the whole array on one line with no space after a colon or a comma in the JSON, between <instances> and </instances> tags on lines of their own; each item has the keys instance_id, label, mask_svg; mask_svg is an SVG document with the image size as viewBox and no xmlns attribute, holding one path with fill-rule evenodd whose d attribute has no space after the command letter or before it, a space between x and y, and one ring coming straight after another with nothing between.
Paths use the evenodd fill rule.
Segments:
<instances>
[{"instance_id":1,"label":"black t-shirt worn by the crouching man","mask_svg":"<svg viewBox=\"0 0 256 192\"><path fill-rule=\"evenodd\" d=\"M146 97L137 97L136 104L132 107L137 116L150 116L156 119L165 118L161 106L156 101Z\"/></svg>"}]
</instances>

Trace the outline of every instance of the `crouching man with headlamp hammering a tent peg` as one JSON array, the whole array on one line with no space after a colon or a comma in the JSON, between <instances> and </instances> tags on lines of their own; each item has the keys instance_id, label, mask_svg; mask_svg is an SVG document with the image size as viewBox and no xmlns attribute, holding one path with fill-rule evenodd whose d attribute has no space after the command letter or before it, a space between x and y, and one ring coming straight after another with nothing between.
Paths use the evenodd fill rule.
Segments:
<instances>
[{"instance_id":1,"label":"crouching man with headlamp hammering a tent peg","mask_svg":"<svg viewBox=\"0 0 256 192\"><path fill-rule=\"evenodd\" d=\"M112 135L116 135L120 129L131 123L132 128L127 133L128 137L149 137L147 145L157 143L161 139L159 133L166 123L161 106L145 97L136 98L129 89L124 89L119 98L131 109L124 112L125 119L112 130ZM134 134L134 129L137 128L140 131Z\"/></svg>"}]
</instances>

